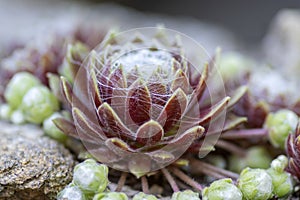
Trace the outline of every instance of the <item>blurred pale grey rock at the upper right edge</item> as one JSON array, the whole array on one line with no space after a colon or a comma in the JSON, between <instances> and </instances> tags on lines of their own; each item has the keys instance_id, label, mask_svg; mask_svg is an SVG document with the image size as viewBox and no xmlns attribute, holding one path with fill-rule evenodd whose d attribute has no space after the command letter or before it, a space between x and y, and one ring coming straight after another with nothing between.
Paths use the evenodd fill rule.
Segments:
<instances>
[{"instance_id":1,"label":"blurred pale grey rock at the upper right edge","mask_svg":"<svg viewBox=\"0 0 300 200\"><path fill-rule=\"evenodd\" d=\"M267 61L289 78L300 75L300 10L284 9L274 18L263 43Z\"/></svg>"}]
</instances>

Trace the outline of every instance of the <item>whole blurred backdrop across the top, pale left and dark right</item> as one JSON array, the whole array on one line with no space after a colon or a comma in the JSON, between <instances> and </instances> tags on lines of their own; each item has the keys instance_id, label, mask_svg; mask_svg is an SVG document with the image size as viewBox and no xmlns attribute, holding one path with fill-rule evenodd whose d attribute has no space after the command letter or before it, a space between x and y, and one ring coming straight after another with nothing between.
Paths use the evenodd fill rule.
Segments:
<instances>
[{"instance_id":1,"label":"whole blurred backdrop across the top, pale left and dark right","mask_svg":"<svg viewBox=\"0 0 300 200\"><path fill-rule=\"evenodd\" d=\"M0 0L0 45L67 30L80 21L121 30L164 24L191 36L208 52L216 46L255 52L274 17L287 8L300 8L300 1Z\"/></svg>"}]
</instances>

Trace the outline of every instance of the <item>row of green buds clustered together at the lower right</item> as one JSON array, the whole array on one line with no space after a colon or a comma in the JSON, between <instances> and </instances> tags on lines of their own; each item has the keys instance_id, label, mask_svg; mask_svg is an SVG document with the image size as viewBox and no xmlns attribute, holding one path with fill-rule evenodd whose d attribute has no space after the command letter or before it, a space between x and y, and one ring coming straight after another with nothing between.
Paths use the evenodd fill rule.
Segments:
<instances>
[{"instance_id":1,"label":"row of green buds clustered together at the lower right","mask_svg":"<svg viewBox=\"0 0 300 200\"><path fill-rule=\"evenodd\" d=\"M285 171L288 159L278 156L268 169L245 168L236 185L229 178L214 181L202 192L203 200L286 199L293 191L291 175Z\"/></svg>"}]
</instances>

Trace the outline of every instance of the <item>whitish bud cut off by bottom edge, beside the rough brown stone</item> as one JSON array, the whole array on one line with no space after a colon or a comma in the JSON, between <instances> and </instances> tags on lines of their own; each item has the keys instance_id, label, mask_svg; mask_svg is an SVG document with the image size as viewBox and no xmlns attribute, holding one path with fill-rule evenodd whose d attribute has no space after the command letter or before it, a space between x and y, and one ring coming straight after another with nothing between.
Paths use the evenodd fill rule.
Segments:
<instances>
[{"instance_id":1,"label":"whitish bud cut off by bottom edge, beside the rough brown stone","mask_svg":"<svg viewBox=\"0 0 300 200\"><path fill-rule=\"evenodd\" d=\"M58 193L57 200L86 200L86 198L77 186L70 184Z\"/></svg>"}]
</instances>

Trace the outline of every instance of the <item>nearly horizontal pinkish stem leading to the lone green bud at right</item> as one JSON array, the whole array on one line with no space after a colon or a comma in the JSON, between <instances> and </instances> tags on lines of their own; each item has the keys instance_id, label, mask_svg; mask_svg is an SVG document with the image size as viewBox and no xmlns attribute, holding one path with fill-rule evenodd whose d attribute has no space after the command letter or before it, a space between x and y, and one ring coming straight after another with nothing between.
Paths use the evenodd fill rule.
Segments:
<instances>
[{"instance_id":1,"label":"nearly horizontal pinkish stem leading to the lone green bud at right","mask_svg":"<svg viewBox=\"0 0 300 200\"><path fill-rule=\"evenodd\" d=\"M258 128L258 129L228 131L222 134L221 138L228 139L228 140L235 140L235 139L261 138L267 135L268 135L267 129Z\"/></svg>"}]
</instances>

